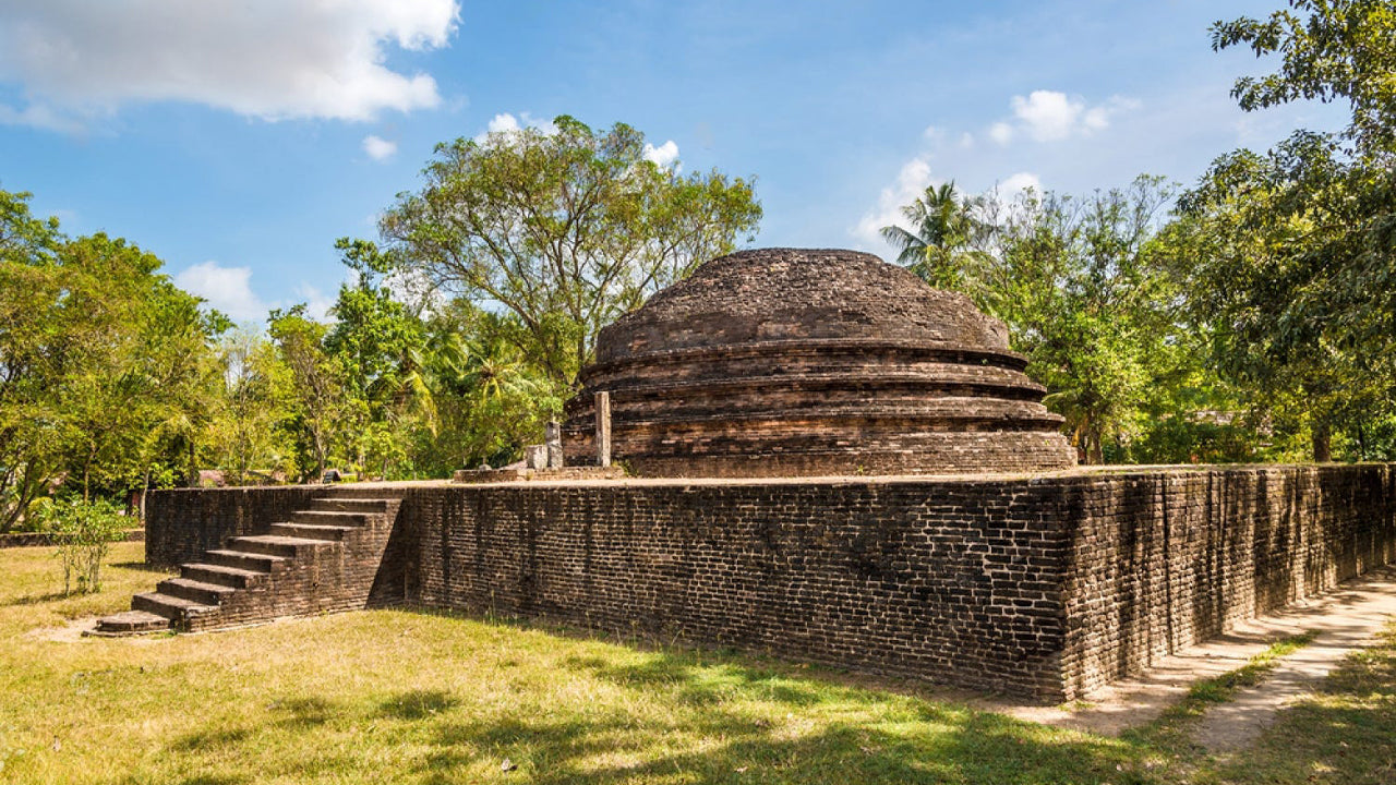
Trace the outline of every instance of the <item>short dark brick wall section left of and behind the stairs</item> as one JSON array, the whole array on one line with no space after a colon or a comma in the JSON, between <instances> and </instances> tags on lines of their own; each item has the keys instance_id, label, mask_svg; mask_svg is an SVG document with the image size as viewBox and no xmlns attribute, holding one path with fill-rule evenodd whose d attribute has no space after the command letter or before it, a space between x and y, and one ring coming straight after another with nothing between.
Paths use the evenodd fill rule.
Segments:
<instances>
[{"instance_id":1,"label":"short dark brick wall section left of and behind the stairs","mask_svg":"<svg viewBox=\"0 0 1396 785\"><path fill-rule=\"evenodd\" d=\"M318 485L272 487L176 487L145 500L145 560L156 567L198 562L230 536L264 534L324 494Z\"/></svg>"}]
</instances>

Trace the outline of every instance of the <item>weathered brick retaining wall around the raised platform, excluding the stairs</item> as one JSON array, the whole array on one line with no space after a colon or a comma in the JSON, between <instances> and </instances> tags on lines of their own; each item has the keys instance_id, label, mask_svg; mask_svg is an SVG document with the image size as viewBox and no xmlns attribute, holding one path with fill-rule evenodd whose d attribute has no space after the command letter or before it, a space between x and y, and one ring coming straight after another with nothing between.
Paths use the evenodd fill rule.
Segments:
<instances>
[{"instance_id":1,"label":"weathered brick retaining wall around the raised platform, excluding the stairs","mask_svg":"<svg viewBox=\"0 0 1396 785\"><path fill-rule=\"evenodd\" d=\"M1071 700L1396 560L1393 469L413 486L376 595ZM295 490L149 508L226 529Z\"/></svg>"}]
</instances>

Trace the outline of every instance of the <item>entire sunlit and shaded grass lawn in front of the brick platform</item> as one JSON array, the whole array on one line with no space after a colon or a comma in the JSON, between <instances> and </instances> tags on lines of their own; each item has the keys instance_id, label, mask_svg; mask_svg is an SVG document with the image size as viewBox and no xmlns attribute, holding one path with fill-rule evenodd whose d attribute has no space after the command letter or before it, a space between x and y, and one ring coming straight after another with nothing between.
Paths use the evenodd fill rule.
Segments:
<instances>
[{"instance_id":1,"label":"entire sunlit and shaded grass lawn in front of the brick platform","mask_svg":"<svg viewBox=\"0 0 1396 785\"><path fill-rule=\"evenodd\" d=\"M1107 739L764 658L424 612L64 640L163 575L120 543L102 594L64 598L52 553L0 550L0 782L1396 784L1396 631L1216 760L1187 726L1263 661Z\"/></svg>"}]
</instances>

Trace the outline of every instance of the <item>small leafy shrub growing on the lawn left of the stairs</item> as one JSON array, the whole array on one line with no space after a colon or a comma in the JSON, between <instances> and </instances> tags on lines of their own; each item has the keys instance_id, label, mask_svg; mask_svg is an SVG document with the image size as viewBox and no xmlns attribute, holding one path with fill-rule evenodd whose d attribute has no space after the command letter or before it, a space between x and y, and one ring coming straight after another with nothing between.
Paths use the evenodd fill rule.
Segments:
<instances>
[{"instance_id":1,"label":"small leafy shrub growing on the lawn left of the stairs","mask_svg":"<svg viewBox=\"0 0 1396 785\"><path fill-rule=\"evenodd\" d=\"M102 591L102 562L113 542L121 539L128 520L109 501L77 497L54 501L45 497L31 506L31 514L56 546L63 564L63 594Z\"/></svg>"}]
</instances>

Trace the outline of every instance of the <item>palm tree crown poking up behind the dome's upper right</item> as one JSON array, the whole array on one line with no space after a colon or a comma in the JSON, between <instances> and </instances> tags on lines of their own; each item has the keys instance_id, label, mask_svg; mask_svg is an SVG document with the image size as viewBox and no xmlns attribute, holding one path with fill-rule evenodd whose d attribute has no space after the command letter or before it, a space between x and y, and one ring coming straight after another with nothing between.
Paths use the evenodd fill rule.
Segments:
<instances>
[{"instance_id":1,"label":"palm tree crown poking up behind the dome's upper right","mask_svg":"<svg viewBox=\"0 0 1396 785\"><path fill-rule=\"evenodd\" d=\"M973 208L976 203L955 191L955 182L927 186L926 191L902 208L912 229L884 226L882 239L896 247L896 261L926 282L946 289L958 288L963 278L962 251L979 232Z\"/></svg>"}]
</instances>

